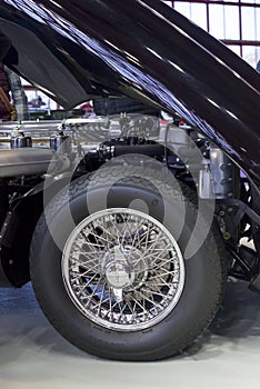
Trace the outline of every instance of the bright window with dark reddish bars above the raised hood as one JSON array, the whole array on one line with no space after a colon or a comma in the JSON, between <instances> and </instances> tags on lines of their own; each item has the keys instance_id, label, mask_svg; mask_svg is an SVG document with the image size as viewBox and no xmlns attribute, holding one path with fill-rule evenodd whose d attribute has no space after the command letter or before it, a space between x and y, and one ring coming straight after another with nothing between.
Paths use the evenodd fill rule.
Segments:
<instances>
[{"instance_id":1,"label":"bright window with dark reddish bars above the raised hood","mask_svg":"<svg viewBox=\"0 0 260 389\"><path fill-rule=\"evenodd\" d=\"M184 14L241 56L252 67L260 60L260 0L171 0Z\"/></svg>"}]
</instances>

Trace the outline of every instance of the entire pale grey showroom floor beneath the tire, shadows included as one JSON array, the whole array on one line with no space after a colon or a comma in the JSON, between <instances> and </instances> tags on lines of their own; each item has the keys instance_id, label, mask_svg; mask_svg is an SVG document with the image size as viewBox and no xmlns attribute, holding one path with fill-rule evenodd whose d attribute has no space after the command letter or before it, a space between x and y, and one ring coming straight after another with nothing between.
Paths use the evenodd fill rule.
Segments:
<instances>
[{"instance_id":1,"label":"entire pale grey showroom floor beneath the tire, shadows included","mask_svg":"<svg viewBox=\"0 0 260 389\"><path fill-rule=\"evenodd\" d=\"M213 326L184 356L116 362L88 356L49 325L31 286L0 289L0 389L260 386L260 295L229 282Z\"/></svg>"}]
</instances>

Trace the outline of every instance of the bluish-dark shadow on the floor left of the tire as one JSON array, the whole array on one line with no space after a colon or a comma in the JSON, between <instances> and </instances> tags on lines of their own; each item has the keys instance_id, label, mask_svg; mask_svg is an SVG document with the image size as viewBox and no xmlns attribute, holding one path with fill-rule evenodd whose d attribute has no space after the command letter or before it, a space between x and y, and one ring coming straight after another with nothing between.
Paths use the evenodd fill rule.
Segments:
<instances>
[{"instance_id":1,"label":"bluish-dark shadow on the floor left of the tire","mask_svg":"<svg viewBox=\"0 0 260 389\"><path fill-rule=\"evenodd\" d=\"M0 362L16 360L19 352L30 348L86 358L47 320L31 283L21 289L0 289Z\"/></svg>"}]
</instances>

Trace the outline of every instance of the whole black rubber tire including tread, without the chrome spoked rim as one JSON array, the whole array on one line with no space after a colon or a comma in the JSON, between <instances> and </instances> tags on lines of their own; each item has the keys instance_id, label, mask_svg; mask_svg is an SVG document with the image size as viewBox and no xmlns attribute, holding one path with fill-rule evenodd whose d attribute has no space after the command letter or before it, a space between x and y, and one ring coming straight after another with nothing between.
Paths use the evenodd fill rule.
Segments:
<instances>
[{"instance_id":1,"label":"whole black rubber tire including tread, without the chrome spoked rim","mask_svg":"<svg viewBox=\"0 0 260 389\"><path fill-rule=\"evenodd\" d=\"M110 187L108 208L128 208L134 199L141 199L152 218L163 222L173 237L178 233L178 245L183 255L197 219L194 193L172 183L171 179L162 178L160 171L146 169L142 171L146 179L140 178L140 167L110 167L96 172L90 182L84 178L72 182L69 206L74 223L79 225L90 212L86 192L88 200L93 202L91 207L102 210L102 197L106 188ZM114 330L87 317L72 302L64 287L62 248L72 230L64 211L66 199L63 190L47 207L31 245L32 285L53 327L78 348L117 360L158 360L179 353L191 345L218 311L227 280L227 253L218 226L213 222L200 249L189 260L184 259L184 285L174 308L159 322L147 328ZM164 222L166 209L168 221ZM52 233L48 226L51 226ZM53 231L58 232L56 241Z\"/></svg>"}]
</instances>

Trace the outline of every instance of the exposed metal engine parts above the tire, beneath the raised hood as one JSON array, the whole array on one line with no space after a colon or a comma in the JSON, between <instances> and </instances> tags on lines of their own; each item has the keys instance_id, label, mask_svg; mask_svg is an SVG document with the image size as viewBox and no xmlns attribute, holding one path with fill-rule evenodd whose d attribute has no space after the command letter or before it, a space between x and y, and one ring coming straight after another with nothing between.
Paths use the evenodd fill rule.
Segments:
<instances>
[{"instance_id":1,"label":"exposed metal engine parts above the tire, beneath the raised hood","mask_svg":"<svg viewBox=\"0 0 260 389\"><path fill-rule=\"evenodd\" d=\"M12 140L16 148L10 148ZM24 148L30 140L32 147ZM190 126L142 114L0 126L0 179L6 190L2 190L1 197L4 202L1 223L6 222L9 209L12 213L10 220L16 223L13 207L21 202L24 209L27 193L34 192L34 188L38 188L36 192L41 188L42 196L44 190L46 196L47 179L52 181L51 186L56 182L61 189L61 182L91 174L107 162L114 167L134 166L139 169L152 168L161 173L168 171L198 194L199 201L216 200L219 227L226 245L231 247L231 253L238 256L237 262L244 253L238 250L240 238L247 236L256 242L259 219L251 209L250 182L239 174L234 163ZM32 225L38 213L32 218ZM4 245L7 240L6 235ZM13 246L13 238L10 241ZM11 250L4 252L4 269L11 271L12 279L20 285L21 278L16 278L14 267L9 266ZM248 279L248 273L244 271L242 277Z\"/></svg>"}]
</instances>

